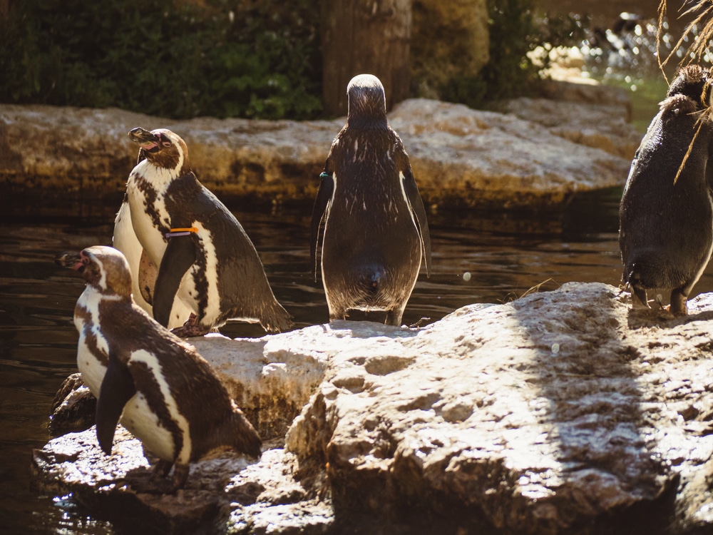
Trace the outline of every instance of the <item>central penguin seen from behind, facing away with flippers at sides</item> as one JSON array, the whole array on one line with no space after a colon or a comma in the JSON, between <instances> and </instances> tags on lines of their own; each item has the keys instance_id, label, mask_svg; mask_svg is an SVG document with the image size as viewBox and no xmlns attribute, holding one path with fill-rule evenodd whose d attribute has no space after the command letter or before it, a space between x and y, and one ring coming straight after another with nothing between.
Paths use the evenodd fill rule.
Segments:
<instances>
[{"instance_id":1,"label":"central penguin seen from behind, facing away with flippers at sides","mask_svg":"<svg viewBox=\"0 0 713 535\"><path fill-rule=\"evenodd\" d=\"M323 226L329 320L344 320L349 310L382 310L386 325L401 325L422 258L431 272L426 209L409 155L386 119L379 78L354 76L347 97L347 123L329 150L312 210L312 274L316 281Z\"/></svg>"}]
</instances>

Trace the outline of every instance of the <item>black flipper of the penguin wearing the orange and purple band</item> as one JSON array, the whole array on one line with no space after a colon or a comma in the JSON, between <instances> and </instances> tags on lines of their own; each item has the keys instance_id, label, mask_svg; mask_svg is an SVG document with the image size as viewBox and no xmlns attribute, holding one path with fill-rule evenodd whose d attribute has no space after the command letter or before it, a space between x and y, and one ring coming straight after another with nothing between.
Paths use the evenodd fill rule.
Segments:
<instances>
[{"instance_id":1,"label":"black flipper of the penguin wearing the orange and purple band","mask_svg":"<svg viewBox=\"0 0 713 535\"><path fill-rule=\"evenodd\" d=\"M164 327L173 307L173 299L178 292L180 281L188 268L195 263L194 235L169 238L166 252L158 268L156 285L153 289L153 317Z\"/></svg>"}]
</instances>

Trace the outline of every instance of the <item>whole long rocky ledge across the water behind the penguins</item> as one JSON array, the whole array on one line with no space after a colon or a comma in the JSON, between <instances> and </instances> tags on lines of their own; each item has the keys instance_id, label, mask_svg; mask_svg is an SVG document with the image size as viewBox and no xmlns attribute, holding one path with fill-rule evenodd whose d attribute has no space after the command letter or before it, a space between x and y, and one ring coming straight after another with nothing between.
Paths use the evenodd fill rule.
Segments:
<instances>
[{"instance_id":1,"label":"whole long rocky ledge across the water behind the penguins","mask_svg":"<svg viewBox=\"0 0 713 535\"><path fill-rule=\"evenodd\" d=\"M571 84L554 98L523 98L503 113L424 98L389 113L411 156L427 205L556 208L573 194L621 186L641 133L616 88ZM170 128L188 143L198 177L221 198L312 200L334 136L334 121L171 121L118 109L0 104L4 213L24 206L117 198L136 160L126 134ZM32 195L16 203L14 195Z\"/></svg>"}]
</instances>

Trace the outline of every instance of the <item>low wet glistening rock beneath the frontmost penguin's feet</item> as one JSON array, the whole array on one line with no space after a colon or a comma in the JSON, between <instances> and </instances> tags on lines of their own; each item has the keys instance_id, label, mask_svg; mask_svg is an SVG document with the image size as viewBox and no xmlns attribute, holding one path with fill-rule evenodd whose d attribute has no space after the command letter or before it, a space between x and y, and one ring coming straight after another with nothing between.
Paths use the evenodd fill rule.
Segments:
<instances>
[{"instance_id":1,"label":"low wet glistening rock beneath the frontmost penguin's feet","mask_svg":"<svg viewBox=\"0 0 713 535\"><path fill-rule=\"evenodd\" d=\"M104 455L92 427L35 450L32 467L43 491L71 494L94 516L128 532L268 534L287 533L292 524L299 533L321 534L333 519L327 504L303 500L306 492L290 475L294 456L279 448L268 449L258 462L223 453L194 463L185 488L174 495L133 489L145 484L153 462L123 427L111 457Z\"/></svg>"}]
</instances>

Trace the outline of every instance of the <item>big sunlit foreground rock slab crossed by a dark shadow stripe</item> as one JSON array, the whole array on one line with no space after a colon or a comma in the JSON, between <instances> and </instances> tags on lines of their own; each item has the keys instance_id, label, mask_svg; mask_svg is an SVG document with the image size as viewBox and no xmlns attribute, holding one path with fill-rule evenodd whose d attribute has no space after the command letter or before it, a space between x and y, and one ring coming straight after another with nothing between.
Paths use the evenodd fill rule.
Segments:
<instances>
[{"instance_id":1,"label":"big sunlit foreground rock slab crossed by a dark shadow stripe","mask_svg":"<svg viewBox=\"0 0 713 535\"><path fill-rule=\"evenodd\" d=\"M401 335L375 370L371 355L332 359L287 449L323 460L338 516L429 511L518 534L654 533L675 514L709 526L713 314L692 310L632 310L614 287L573 283L465 307Z\"/></svg>"}]
</instances>

